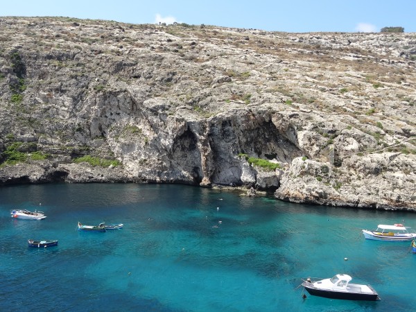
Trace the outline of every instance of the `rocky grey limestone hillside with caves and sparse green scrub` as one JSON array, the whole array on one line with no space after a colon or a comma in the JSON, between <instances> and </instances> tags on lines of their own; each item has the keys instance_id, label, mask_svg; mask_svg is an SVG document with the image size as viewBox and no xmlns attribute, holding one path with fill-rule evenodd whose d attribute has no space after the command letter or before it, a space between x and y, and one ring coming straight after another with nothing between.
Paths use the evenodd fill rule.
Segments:
<instances>
[{"instance_id":1,"label":"rocky grey limestone hillside with caves and sparse green scrub","mask_svg":"<svg viewBox=\"0 0 416 312\"><path fill-rule=\"evenodd\" d=\"M416 34L0 17L0 185L416 209Z\"/></svg>"}]
</instances>

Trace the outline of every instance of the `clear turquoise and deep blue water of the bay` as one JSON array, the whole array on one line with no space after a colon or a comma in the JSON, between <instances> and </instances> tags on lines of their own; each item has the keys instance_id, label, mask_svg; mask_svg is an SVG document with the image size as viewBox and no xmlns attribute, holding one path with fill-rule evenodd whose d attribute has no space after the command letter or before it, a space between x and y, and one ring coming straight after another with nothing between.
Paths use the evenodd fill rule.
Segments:
<instances>
[{"instance_id":1,"label":"clear turquoise and deep blue water of the bay","mask_svg":"<svg viewBox=\"0 0 416 312\"><path fill-rule=\"evenodd\" d=\"M10 218L10 209L45 212ZM86 225L123 223L85 233ZM0 187L2 311L413 311L410 243L367 241L416 214L295 205L180 185ZM28 248L28 239L58 247ZM347 257L347 261L345 261ZM302 299L302 277L344 272L378 302Z\"/></svg>"}]
</instances>

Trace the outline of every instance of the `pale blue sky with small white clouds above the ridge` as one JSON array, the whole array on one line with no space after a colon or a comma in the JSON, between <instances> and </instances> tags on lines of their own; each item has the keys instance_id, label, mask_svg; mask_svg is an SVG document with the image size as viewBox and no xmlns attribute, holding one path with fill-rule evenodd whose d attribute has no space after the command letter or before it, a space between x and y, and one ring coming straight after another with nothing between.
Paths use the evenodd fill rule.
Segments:
<instances>
[{"instance_id":1,"label":"pale blue sky with small white clouds above the ridge","mask_svg":"<svg viewBox=\"0 0 416 312\"><path fill-rule=\"evenodd\" d=\"M416 33L416 0L1 0L0 16L214 25L288 33Z\"/></svg>"}]
</instances>

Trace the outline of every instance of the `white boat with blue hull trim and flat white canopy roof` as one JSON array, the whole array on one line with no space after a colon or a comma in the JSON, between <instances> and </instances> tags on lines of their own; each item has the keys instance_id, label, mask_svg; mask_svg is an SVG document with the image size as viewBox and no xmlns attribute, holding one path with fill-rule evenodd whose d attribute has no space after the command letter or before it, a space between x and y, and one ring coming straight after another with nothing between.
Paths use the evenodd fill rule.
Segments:
<instances>
[{"instance_id":1,"label":"white boat with blue hull trim and flat white canopy roof","mask_svg":"<svg viewBox=\"0 0 416 312\"><path fill-rule=\"evenodd\" d=\"M416 233L409 232L410 227L402 224L395 225L378 225L375 231L363 229L365 239L373 239L375 241L412 241L416 237Z\"/></svg>"}]
</instances>

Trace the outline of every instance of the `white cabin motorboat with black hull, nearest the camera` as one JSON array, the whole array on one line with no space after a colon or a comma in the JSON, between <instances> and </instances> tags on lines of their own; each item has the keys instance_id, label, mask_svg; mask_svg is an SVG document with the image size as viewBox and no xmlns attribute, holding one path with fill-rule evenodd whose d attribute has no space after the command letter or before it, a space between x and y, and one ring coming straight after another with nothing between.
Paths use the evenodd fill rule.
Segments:
<instances>
[{"instance_id":1,"label":"white cabin motorboat with black hull, nearest the camera","mask_svg":"<svg viewBox=\"0 0 416 312\"><path fill-rule=\"evenodd\" d=\"M345 299L345 300L379 300L379 294L370 285L352 284L352 277L346 274L337 274L330 279L312 281L308 278L302 286L314 296Z\"/></svg>"}]
</instances>

